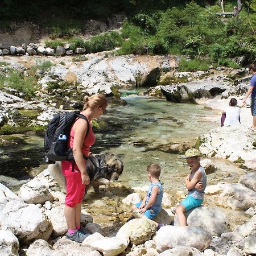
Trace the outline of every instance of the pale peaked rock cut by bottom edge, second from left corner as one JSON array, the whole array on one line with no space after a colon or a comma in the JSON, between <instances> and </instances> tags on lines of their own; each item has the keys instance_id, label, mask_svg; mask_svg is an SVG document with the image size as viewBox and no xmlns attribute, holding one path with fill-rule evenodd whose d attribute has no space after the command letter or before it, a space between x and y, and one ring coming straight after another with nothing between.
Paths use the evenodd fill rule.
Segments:
<instances>
[{"instance_id":1,"label":"pale peaked rock cut by bottom edge, second from left corner","mask_svg":"<svg viewBox=\"0 0 256 256\"><path fill-rule=\"evenodd\" d=\"M36 240L34 243L31 243L30 247L28 247L26 251L26 256L42 255L65 256L67 254L63 253L60 250L53 250L52 246L42 239Z\"/></svg>"}]
</instances>

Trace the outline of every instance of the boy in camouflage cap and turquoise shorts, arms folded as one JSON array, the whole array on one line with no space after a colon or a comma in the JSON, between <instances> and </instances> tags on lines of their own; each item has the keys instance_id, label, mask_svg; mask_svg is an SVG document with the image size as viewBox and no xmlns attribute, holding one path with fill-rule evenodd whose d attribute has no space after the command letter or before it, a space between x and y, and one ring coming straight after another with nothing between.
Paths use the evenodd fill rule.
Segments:
<instances>
[{"instance_id":1,"label":"boy in camouflage cap and turquoise shorts, arms folded","mask_svg":"<svg viewBox=\"0 0 256 256\"><path fill-rule=\"evenodd\" d=\"M191 148L185 152L185 159L191 170L185 177L185 185L188 188L188 195L176 208L180 226L187 225L185 212L195 207L199 207L204 201L204 190L207 185L207 176L204 168L200 166L200 152L196 148Z\"/></svg>"}]
</instances>

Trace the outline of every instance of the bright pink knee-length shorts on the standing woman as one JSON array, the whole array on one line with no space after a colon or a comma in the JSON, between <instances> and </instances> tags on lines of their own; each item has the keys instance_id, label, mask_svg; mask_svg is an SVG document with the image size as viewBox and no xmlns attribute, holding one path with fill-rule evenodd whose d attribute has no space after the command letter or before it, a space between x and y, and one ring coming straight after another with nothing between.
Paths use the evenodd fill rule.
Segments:
<instances>
[{"instance_id":1,"label":"bright pink knee-length shorts on the standing woman","mask_svg":"<svg viewBox=\"0 0 256 256\"><path fill-rule=\"evenodd\" d=\"M72 172L72 162L61 162L62 173L66 179L67 195L65 197L65 205L75 207L82 203L84 199L85 184L82 184L81 172L75 164Z\"/></svg>"}]
</instances>

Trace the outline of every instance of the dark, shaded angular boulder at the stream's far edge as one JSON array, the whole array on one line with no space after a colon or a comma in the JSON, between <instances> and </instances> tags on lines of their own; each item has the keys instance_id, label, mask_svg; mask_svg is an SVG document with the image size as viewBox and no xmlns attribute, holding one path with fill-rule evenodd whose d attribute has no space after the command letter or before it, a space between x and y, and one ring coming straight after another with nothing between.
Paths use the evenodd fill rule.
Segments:
<instances>
[{"instance_id":1,"label":"dark, shaded angular boulder at the stream's far edge","mask_svg":"<svg viewBox=\"0 0 256 256\"><path fill-rule=\"evenodd\" d=\"M185 85L172 84L161 87L161 92L166 97L167 101L171 102L194 102L195 98L191 90Z\"/></svg>"}]
</instances>

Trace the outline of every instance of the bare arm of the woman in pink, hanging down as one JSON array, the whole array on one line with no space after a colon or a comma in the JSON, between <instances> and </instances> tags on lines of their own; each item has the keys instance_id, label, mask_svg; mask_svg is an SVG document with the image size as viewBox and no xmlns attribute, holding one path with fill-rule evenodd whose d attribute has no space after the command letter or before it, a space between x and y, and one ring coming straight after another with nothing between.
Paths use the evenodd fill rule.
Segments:
<instances>
[{"instance_id":1,"label":"bare arm of the woman in pink, hanging down","mask_svg":"<svg viewBox=\"0 0 256 256\"><path fill-rule=\"evenodd\" d=\"M87 122L84 119L78 119L73 126L74 141L73 141L73 155L77 167L82 174L82 184L88 185L90 183L89 176L86 171L86 166L84 164L84 157L82 155L82 144L84 143L84 138L86 131L88 129Z\"/></svg>"}]
</instances>

